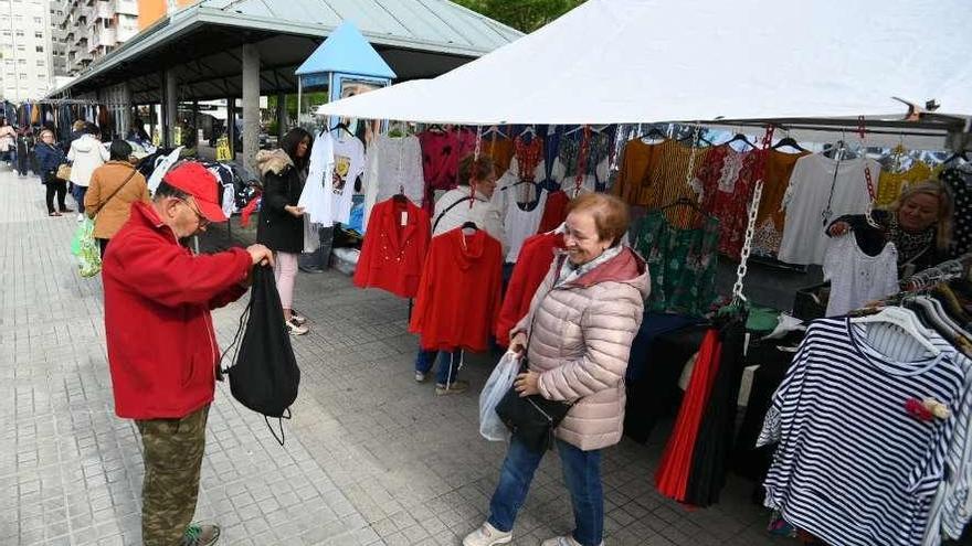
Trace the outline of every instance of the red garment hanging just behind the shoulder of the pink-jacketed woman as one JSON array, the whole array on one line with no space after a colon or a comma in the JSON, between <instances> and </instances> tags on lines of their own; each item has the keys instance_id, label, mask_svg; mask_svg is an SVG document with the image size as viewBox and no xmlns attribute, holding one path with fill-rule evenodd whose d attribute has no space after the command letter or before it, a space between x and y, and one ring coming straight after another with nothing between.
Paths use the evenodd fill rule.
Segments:
<instances>
[{"instance_id":1,"label":"red garment hanging just behind the shoulder of the pink-jacketed woman","mask_svg":"<svg viewBox=\"0 0 972 546\"><path fill-rule=\"evenodd\" d=\"M550 271L554 250L560 248L563 248L563 236L560 234L541 233L524 242L496 319L494 333L500 345L509 345L509 331L529 312L537 288Z\"/></svg>"}]
</instances>

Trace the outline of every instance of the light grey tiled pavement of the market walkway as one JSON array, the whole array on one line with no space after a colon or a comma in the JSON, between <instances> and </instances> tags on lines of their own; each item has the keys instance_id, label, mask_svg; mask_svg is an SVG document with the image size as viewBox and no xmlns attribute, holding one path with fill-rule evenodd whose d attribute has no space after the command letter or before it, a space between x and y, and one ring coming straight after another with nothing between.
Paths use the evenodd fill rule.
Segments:
<instances>
[{"instance_id":1,"label":"light grey tiled pavement of the market walkway","mask_svg":"<svg viewBox=\"0 0 972 546\"><path fill-rule=\"evenodd\" d=\"M139 544L140 441L113 410L101 281L75 274L76 224L49 218L42 190L0 167L0 545ZM504 454L478 437L476 389L435 397L412 381L402 300L328 272L302 274L296 301L311 333L294 342L303 381L286 446L220 385L198 518L222 524L233 546L459 544L485 517ZM242 306L214 314L224 346ZM479 387L490 363L468 358L463 374ZM609 545L785 543L767 537L747 482L732 479L708 510L659 496L664 435L606 450ZM556 459L537 473L514 544L571 528Z\"/></svg>"}]
</instances>

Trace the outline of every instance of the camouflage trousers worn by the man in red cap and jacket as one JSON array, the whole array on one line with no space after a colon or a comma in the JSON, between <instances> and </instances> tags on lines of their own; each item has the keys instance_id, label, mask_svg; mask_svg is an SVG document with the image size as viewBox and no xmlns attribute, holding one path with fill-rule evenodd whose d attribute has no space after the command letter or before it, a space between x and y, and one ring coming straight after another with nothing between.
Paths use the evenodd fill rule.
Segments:
<instances>
[{"instance_id":1,"label":"camouflage trousers worn by the man in red cap and jacket","mask_svg":"<svg viewBox=\"0 0 972 546\"><path fill-rule=\"evenodd\" d=\"M136 420L141 433L141 539L178 546L196 513L209 406L181 419Z\"/></svg>"}]
</instances>

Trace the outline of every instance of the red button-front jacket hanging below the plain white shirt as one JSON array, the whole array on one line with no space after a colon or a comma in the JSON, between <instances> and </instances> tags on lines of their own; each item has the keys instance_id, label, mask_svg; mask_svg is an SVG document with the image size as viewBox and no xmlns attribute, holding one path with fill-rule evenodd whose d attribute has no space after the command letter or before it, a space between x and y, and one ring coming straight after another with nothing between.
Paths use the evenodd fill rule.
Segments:
<instances>
[{"instance_id":1,"label":"red button-front jacket hanging below the plain white shirt","mask_svg":"<svg viewBox=\"0 0 972 546\"><path fill-rule=\"evenodd\" d=\"M402 214L405 214L404 225ZM376 204L355 269L355 286L381 288L402 298L414 298L429 249L429 213L411 201L390 199Z\"/></svg>"}]
</instances>

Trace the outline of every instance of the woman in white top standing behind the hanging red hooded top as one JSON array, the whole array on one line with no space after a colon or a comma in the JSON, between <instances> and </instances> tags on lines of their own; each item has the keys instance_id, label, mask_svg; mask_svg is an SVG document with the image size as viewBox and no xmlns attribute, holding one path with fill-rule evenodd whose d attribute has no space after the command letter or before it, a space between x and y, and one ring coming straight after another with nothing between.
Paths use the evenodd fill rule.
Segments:
<instances>
[{"instance_id":1,"label":"woman in white top standing behind the hanging red hooded top","mask_svg":"<svg viewBox=\"0 0 972 546\"><path fill-rule=\"evenodd\" d=\"M435 203L432 215L432 235L442 235L473 222L485 229L500 245L506 242L503 228L503 214L493 200L496 192L496 167L486 156L466 156L459 162L459 185L450 190ZM503 249L506 255L506 248ZM469 383L457 378L462 351L426 351L419 349L415 356L415 381L424 383L432 366L439 361L435 378L435 394L459 394L469 388Z\"/></svg>"}]
</instances>

